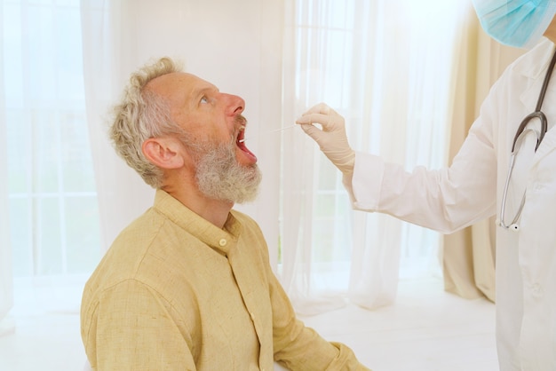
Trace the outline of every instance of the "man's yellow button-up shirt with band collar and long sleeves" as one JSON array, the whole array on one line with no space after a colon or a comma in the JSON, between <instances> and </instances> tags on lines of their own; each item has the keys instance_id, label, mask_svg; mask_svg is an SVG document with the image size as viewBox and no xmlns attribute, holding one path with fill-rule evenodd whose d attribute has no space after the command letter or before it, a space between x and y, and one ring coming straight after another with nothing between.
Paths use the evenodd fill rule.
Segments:
<instances>
[{"instance_id":1,"label":"man's yellow button-up shirt with band collar and long sleeves","mask_svg":"<svg viewBox=\"0 0 556 371\"><path fill-rule=\"evenodd\" d=\"M83 291L81 335L97 370L366 370L296 320L258 225L223 229L157 191Z\"/></svg>"}]
</instances>

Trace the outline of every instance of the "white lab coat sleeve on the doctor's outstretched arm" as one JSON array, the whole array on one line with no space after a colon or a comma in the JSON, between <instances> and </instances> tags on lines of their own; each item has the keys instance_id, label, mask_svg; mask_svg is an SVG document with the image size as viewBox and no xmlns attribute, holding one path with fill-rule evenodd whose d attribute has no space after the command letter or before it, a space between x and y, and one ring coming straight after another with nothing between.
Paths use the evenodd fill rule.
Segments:
<instances>
[{"instance_id":1,"label":"white lab coat sleeve on the doctor's outstretched arm","mask_svg":"<svg viewBox=\"0 0 556 371\"><path fill-rule=\"evenodd\" d=\"M381 212L409 223L453 233L496 213L496 151L491 106L485 101L449 168L409 172L372 154L356 153L353 178L344 185L353 209Z\"/></svg>"}]
</instances>

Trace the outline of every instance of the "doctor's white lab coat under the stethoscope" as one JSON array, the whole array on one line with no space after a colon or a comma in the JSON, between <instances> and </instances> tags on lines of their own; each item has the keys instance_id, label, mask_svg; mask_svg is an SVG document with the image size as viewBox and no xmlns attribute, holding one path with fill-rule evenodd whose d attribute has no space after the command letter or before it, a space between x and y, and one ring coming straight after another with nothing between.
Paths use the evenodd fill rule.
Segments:
<instances>
[{"instance_id":1,"label":"doctor's white lab coat under the stethoscope","mask_svg":"<svg viewBox=\"0 0 556 371\"><path fill-rule=\"evenodd\" d=\"M442 233L500 217L513 137L535 110L553 49L543 39L505 70L448 169L409 173L357 153L353 178L345 179L353 208ZM556 76L542 110L549 130L536 153L531 144L536 133L528 130L508 195L507 224L527 189L520 230L496 228L496 339L502 371L556 370Z\"/></svg>"}]
</instances>

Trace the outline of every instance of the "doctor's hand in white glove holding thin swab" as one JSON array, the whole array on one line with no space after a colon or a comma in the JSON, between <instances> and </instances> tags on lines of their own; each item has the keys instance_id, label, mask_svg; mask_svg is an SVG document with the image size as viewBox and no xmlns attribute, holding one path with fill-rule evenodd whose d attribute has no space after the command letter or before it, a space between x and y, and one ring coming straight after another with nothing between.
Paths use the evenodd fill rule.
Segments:
<instances>
[{"instance_id":1,"label":"doctor's hand in white glove holding thin swab","mask_svg":"<svg viewBox=\"0 0 556 371\"><path fill-rule=\"evenodd\" d=\"M353 173L355 153L347 143L344 117L324 103L320 103L301 115L296 123L300 124L301 129L317 142L322 153L340 171L344 174ZM322 130L314 126L314 123L320 123Z\"/></svg>"}]
</instances>

